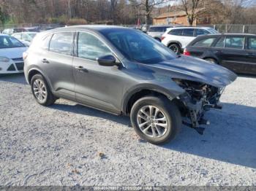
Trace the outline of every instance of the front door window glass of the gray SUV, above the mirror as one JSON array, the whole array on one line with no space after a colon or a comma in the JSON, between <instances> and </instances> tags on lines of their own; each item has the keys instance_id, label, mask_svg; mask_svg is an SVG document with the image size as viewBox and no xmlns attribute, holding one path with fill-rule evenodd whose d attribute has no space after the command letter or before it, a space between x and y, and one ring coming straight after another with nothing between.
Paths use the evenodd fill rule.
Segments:
<instances>
[{"instance_id":1,"label":"front door window glass of the gray SUV, above the mirror","mask_svg":"<svg viewBox=\"0 0 256 191\"><path fill-rule=\"evenodd\" d=\"M112 55L108 47L96 36L80 32L78 35L78 57L96 61L103 55Z\"/></svg>"}]
</instances>

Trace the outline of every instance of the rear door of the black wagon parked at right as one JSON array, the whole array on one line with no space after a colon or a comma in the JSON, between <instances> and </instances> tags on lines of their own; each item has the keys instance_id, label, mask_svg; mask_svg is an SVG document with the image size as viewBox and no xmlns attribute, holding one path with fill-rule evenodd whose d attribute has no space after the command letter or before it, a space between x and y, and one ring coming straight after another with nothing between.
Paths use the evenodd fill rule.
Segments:
<instances>
[{"instance_id":1,"label":"rear door of the black wagon parked at right","mask_svg":"<svg viewBox=\"0 0 256 191\"><path fill-rule=\"evenodd\" d=\"M224 48L222 47L224 45ZM245 36L223 36L216 44L215 55L219 58L219 64L235 71L244 73L247 52L245 50Z\"/></svg>"}]
</instances>

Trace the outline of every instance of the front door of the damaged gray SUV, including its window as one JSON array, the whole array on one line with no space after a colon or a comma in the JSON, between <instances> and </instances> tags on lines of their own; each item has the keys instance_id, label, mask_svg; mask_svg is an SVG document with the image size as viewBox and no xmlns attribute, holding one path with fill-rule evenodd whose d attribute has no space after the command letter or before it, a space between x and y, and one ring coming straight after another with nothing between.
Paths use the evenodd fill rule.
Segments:
<instances>
[{"instance_id":1,"label":"front door of the damaged gray SUV, including its window","mask_svg":"<svg viewBox=\"0 0 256 191\"><path fill-rule=\"evenodd\" d=\"M120 113L124 67L99 66L97 58L113 53L89 32L79 32L76 52L73 62L76 100L97 109Z\"/></svg>"}]
</instances>

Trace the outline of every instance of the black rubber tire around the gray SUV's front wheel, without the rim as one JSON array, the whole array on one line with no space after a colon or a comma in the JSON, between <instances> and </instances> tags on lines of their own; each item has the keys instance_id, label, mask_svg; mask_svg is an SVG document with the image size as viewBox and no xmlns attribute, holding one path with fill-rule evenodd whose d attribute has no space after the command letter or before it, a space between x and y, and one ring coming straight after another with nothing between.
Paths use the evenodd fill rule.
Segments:
<instances>
[{"instance_id":1,"label":"black rubber tire around the gray SUV's front wheel, without the rim","mask_svg":"<svg viewBox=\"0 0 256 191\"><path fill-rule=\"evenodd\" d=\"M157 107L157 109L160 110L161 114L164 114L163 116L166 118L166 123L164 124L167 124L166 125L167 130L165 130L165 133L162 136L152 137L153 128L149 128L149 130L146 130L146 132L149 131L148 133L152 132L152 136L148 136L146 133L143 133L143 130L145 129L143 130L140 129L138 116L141 116L141 113L139 112L141 111L140 109L143 109L146 106ZM144 139L150 142L151 144L165 144L173 140L176 137L177 133L181 130L181 124L182 124L181 112L178 110L178 107L176 106L176 104L174 104L172 101L168 100L164 96L159 96L159 97L147 96L144 98L140 98L132 106L130 119L132 122L132 127L135 129L135 132L138 133L138 136L140 136L141 139ZM157 125L154 125L154 126L157 127ZM154 131L159 132L158 128L154 128L155 129Z\"/></svg>"}]
</instances>

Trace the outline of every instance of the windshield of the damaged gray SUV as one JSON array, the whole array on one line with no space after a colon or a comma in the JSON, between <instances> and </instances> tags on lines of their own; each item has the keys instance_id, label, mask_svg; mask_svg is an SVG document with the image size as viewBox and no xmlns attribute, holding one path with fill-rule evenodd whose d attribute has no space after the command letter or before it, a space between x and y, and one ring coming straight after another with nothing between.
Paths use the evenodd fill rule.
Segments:
<instances>
[{"instance_id":1,"label":"windshield of the damaged gray SUV","mask_svg":"<svg viewBox=\"0 0 256 191\"><path fill-rule=\"evenodd\" d=\"M157 40L136 30L106 30L102 34L130 61L159 63L177 55Z\"/></svg>"}]
</instances>

